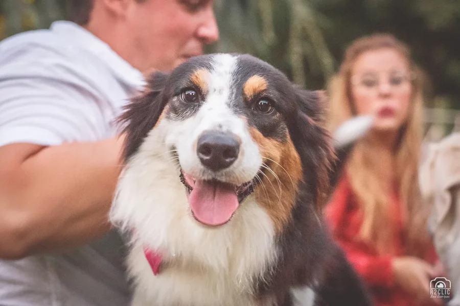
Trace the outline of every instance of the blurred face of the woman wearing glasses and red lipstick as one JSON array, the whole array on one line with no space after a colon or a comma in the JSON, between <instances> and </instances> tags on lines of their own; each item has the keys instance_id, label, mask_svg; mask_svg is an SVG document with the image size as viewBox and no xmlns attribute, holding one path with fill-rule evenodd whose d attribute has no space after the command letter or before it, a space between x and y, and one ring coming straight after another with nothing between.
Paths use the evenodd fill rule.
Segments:
<instances>
[{"instance_id":1,"label":"blurred face of the woman wearing glasses and red lipstick","mask_svg":"<svg viewBox=\"0 0 460 306\"><path fill-rule=\"evenodd\" d=\"M412 96L405 57L392 48L362 53L351 70L351 94L358 115L376 116L375 131L399 131Z\"/></svg>"}]
</instances>

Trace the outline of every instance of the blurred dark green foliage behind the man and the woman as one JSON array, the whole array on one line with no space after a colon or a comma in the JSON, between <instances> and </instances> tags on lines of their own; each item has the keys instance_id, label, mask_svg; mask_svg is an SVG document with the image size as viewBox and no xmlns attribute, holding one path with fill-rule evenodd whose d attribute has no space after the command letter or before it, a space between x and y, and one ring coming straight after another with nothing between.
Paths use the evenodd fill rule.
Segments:
<instances>
[{"instance_id":1,"label":"blurred dark green foliage behind the man and the woman","mask_svg":"<svg viewBox=\"0 0 460 306\"><path fill-rule=\"evenodd\" d=\"M0 0L0 39L48 28L64 3ZM216 15L221 40L208 52L250 53L311 89L326 86L353 39L393 33L428 75L427 124L460 128L458 0L216 0Z\"/></svg>"}]
</instances>

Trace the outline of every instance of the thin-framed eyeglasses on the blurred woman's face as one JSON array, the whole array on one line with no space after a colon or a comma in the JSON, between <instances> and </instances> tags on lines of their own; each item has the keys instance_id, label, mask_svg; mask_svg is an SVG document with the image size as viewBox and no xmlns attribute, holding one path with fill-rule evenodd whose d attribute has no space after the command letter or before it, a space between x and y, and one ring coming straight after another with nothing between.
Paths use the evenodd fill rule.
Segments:
<instances>
[{"instance_id":1,"label":"thin-framed eyeglasses on the blurred woman's face","mask_svg":"<svg viewBox=\"0 0 460 306\"><path fill-rule=\"evenodd\" d=\"M376 89L382 82L382 77L377 73L364 73L362 75L353 75L351 78L353 86L359 86L366 89ZM404 88L415 79L413 73L392 72L387 74L386 81L388 85L394 89Z\"/></svg>"}]
</instances>

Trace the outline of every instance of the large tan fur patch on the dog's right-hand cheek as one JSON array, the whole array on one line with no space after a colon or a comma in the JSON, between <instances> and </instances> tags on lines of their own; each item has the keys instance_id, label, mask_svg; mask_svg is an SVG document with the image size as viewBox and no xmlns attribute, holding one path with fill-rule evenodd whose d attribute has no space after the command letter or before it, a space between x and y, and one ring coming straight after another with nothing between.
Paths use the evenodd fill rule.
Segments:
<instances>
[{"instance_id":1,"label":"large tan fur patch on the dog's right-hand cheek","mask_svg":"<svg viewBox=\"0 0 460 306\"><path fill-rule=\"evenodd\" d=\"M262 186L255 190L257 202L267 211L277 232L281 232L291 217L298 183L302 180L302 163L289 138L286 143L264 137L256 128L250 128L252 139L259 145L263 162L278 176L265 169L260 175ZM260 182L259 182L260 183Z\"/></svg>"}]
</instances>

